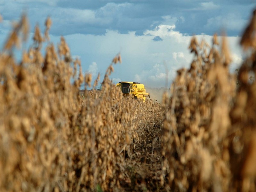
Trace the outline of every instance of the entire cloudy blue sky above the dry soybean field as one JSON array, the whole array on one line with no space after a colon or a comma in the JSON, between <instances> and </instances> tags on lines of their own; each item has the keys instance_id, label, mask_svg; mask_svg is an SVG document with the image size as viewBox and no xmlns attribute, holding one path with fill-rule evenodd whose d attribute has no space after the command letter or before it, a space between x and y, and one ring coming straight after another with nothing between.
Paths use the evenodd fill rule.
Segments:
<instances>
[{"instance_id":1,"label":"entire cloudy blue sky above the dry soybean field","mask_svg":"<svg viewBox=\"0 0 256 192\"><path fill-rule=\"evenodd\" d=\"M212 36L224 30L234 72L243 60L239 39L254 8L256 0L0 0L0 48L23 12L31 34L37 24L44 31L50 16L50 41L56 45L64 36L84 74L94 79L100 73L102 80L120 53L122 64L110 76L113 83L169 87L177 69L193 59L188 46L194 35L211 44Z\"/></svg>"}]
</instances>

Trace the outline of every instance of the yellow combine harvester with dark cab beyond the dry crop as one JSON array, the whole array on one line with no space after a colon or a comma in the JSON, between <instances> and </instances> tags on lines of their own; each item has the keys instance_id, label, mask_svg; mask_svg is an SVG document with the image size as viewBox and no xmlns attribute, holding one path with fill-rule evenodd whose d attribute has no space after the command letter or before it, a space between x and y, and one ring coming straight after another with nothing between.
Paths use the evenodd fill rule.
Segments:
<instances>
[{"instance_id":1,"label":"yellow combine harvester with dark cab beyond the dry crop","mask_svg":"<svg viewBox=\"0 0 256 192\"><path fill-rule=\"evenodd\" d=\"M121 81L117 83L116 86L120 87L125 97L132 96L134 99L143 99L143 102L146 101L146 97L150 98L149 93L146 93L144 84L140 84L137 82Z\"/></svg>"}]
</instances>

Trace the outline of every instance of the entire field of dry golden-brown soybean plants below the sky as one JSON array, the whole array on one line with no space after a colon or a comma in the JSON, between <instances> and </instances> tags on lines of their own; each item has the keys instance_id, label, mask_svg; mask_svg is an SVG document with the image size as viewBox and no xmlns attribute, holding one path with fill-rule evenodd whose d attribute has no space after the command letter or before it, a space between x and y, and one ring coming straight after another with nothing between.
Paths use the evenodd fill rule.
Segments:
<instances>
[{"instance_id":1,"label":"entire field of dry golden-brown soybean plants below the sky","mask_svg":"<svg viewBox=\"0 0 256 192\"><path fill-rule=\"evenodd\" d=\"M41 53L51 25L47 18L43 36L35 28L16 63L13 49L29 31L22 16L0 54L0 191L256 190L255 11L241 39L251 55L237 79L224 35L220 52L217 35L212 46L193 37L190 68L177 71L161 106L122 97L108 78L120 54L102 89L98 75L81 96L92 76L64 37Z\"/></svg>"}]
</instances>

